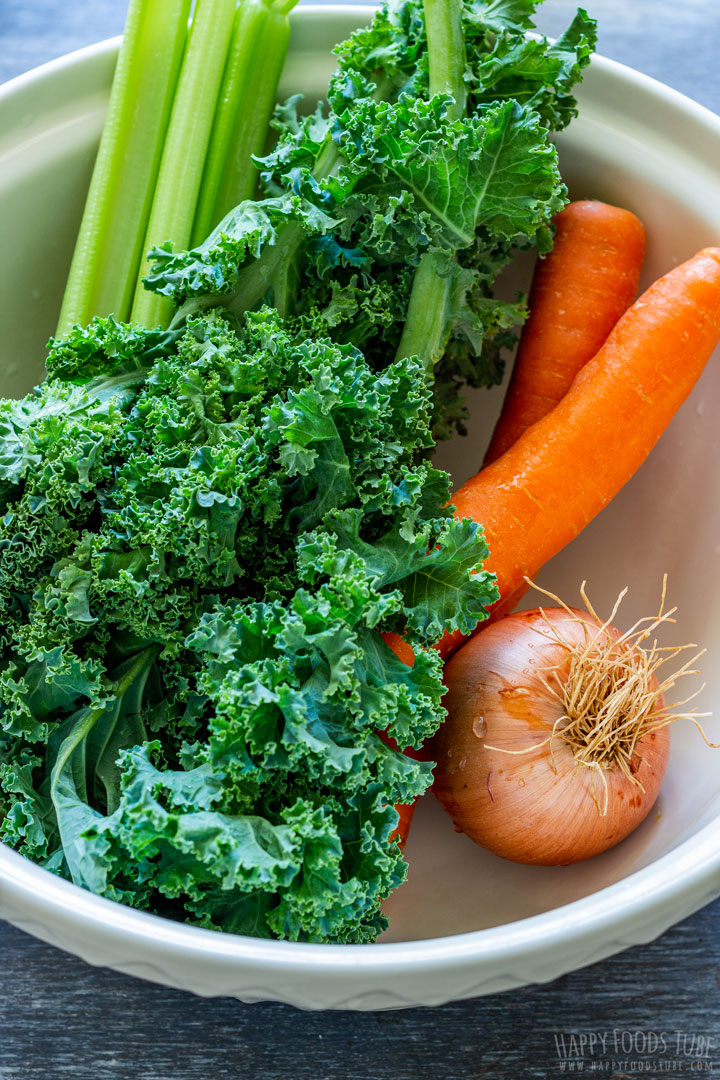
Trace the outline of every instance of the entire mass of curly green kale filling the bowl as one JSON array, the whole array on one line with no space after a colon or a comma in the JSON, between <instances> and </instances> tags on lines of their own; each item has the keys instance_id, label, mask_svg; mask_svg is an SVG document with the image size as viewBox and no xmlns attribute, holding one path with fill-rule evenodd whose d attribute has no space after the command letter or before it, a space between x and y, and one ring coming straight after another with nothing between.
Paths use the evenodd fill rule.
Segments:
<instances>
[{"instance_id":1,"label":"entire mass of curly green kale filling the bowl","mask_svg":"<svg viewBox=\"0 0 720 1080\"><path fill-rule=\"evenodd\" d=\"M264 198L152 247L169 325L68 325L76 280L45 381L0 402L0 838L47 869L236 933L384 928L432 768L396 747L444 718L432 646L498 595L434 435L500 378L525 309L493 283L549 247L594 41L582 12L528 38L534 6L382 4L329 107L276 110Z\"/></svg>"}]
</instances>

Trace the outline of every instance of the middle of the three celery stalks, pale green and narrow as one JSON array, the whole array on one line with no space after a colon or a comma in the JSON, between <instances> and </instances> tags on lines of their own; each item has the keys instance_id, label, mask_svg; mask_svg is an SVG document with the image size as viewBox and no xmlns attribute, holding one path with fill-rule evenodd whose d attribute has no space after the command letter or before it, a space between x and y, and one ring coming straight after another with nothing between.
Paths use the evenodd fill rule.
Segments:
<instances>
[{"instance_id":1,"label":"middle of the three celery stalks, pale green and narrow","mask_svg":"<svg viewBox=\"0 0 720 1080\"><path fill-rule=\"evenodd\" d=\"M177 247L190 244L234 15L235 0L196 0L131 312L144 326L166 326L173 313L172 300L142 287L147 252L168 240Z\"/></svg>"}]
</instances>

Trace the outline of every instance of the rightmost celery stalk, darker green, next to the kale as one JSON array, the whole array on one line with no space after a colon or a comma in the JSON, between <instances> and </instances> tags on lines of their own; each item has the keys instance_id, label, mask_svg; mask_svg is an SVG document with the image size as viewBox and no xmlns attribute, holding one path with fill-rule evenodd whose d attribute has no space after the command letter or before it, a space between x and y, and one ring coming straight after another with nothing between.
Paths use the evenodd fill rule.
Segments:
<instances>
[{"instance_id":1,"label":"rightmost celery stalk, darker green, next to the kale","mask_svg":"<svg viewBox=\"0 0 720 1080\"><path fill-rule=\"evenodd\" d=\"M253 154L261 154L290 38L289 11L272 0L242 0L213 124L200 201L192 230L202 243L233 206L252 199L257 186Z\"/></svg>"}]
</instances>

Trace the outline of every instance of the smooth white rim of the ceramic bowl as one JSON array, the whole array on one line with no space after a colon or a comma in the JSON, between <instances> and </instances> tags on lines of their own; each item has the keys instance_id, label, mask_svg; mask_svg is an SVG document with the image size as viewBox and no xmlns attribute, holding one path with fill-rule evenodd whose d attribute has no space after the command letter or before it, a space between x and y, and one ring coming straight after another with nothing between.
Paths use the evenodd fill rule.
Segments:
<instances>
[{"instance_id":1,"label":"smooth white rim of the ceramic bowl","mask_svg":"<svg viewBox=\"0 0 720 1080\"><path fill-rule=\"evenodd\" d=\"M334 16L357 17L359 25L364 17L371 15L373 6L307 4L296 9L291 17L304 22L331 12ZM0 105L49 77L94 60L109 59L120 40L120 36L107 38L16 76L0 86ZM624 84L628 92L640 92L655 102L661 99L680 109L685 118L720 139L720 117L679 91L601 55L593 57L592 67ZM658 916L662 909L677 908L684 915L718 893L720 832L717 822L709 822L648 866L539 915L439 937L359 945L318 944L258 939L174 922L89 892L0 842L0 901L3 894L8 895L13 912L18 913L18 924L23 921L21 912L28 916L28 929L36 924L30 923L29 917L47 909L56 916L62 915L66 926L77 924L85 936L92 932L113 936L122 932L150 951L169 947L173 951L179 949L186 957L212 958L223 966L249 961L269 971L286 973L288 969L307 973L310 967L313 974L334 977L357 975L358 971L397 976L412 974L421 967L425 970L445 968L448 962L456 970L470 969L478 962L508 962L518 956L549 955L558 947L567 950L572 944L588 941L613 940L620 948L636 943L630 935L633 923L644 926L655 915L660 929L664 929L665 923ZM615 936L609 939L608 931Z\"/></svg>"}]
</instances>

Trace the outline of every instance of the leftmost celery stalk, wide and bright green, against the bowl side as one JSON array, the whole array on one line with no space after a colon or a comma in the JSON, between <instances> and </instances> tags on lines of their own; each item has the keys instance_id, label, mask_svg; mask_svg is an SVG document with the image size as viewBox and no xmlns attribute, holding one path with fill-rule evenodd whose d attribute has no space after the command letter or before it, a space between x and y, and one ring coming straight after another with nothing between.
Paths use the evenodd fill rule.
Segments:
<instances>
[{"instance_id":1,"label":"leftmost celery stalk, wide and bright green, against the bowl side","mask_svg":"<svg viewBox=\"0 0 720 1080\"><path fill-rule=\"evenodd\" d=\"M182 60L190 0L131 0L57 336L126 320Z\"/></svg>"}]
</instances>

